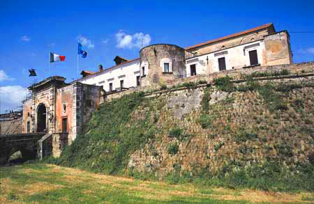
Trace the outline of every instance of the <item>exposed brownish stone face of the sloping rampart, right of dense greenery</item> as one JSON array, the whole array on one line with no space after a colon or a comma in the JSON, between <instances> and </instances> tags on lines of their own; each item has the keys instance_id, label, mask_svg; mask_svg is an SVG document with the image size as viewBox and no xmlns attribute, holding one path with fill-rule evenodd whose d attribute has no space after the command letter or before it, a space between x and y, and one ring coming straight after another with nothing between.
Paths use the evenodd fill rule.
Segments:
<instances>
[{"instance_id":1,"label":"exposed brownish stone face of the sloping rampart, right of dense greenery","mask_svg":"<svg viewBox=\"0 0 314 204\"><path fill-rule=\"evenodd\" d=\"M223 166L237 171L267 161L287 168L311 162L314 77L259 83L271 83L267 93L274 97L262 97L253 84L237 84L241 91L201 87L154 95L133 118L153 114L158 134L130 156L128 168L163 177L173 171L222 171Z\"/></svg>"}]
</instances>

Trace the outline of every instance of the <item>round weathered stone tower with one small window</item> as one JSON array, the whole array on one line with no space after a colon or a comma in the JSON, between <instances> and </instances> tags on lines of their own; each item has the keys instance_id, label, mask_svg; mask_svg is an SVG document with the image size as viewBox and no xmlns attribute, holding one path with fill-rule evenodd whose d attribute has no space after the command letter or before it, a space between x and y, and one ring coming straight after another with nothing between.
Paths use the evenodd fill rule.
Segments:
<instances>
[{"instance_id":1,"label":"round weathered stone tower with one small window","mask_svg":"<svg viewBox=\"0 0 314 204\"><path fill-rule=\"evenodd\" d=\"M185 49L177 45L156 44L140 50L141 86L172 84L174 79L184 77Z\"/></svg>"}]
</instances>

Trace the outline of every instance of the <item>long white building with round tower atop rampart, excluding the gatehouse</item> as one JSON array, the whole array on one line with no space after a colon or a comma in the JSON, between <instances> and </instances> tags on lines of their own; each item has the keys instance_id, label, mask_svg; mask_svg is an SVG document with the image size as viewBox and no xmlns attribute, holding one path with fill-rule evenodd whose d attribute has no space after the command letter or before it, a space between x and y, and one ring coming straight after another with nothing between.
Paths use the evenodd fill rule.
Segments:
<instances>
[{"instance_id":1,"label":"long white building with round tower atop rampart, excluding the gatehouse","mask_svg":"<svg viewBox=\"0 0 314 204\"><path fill-rule=\"evenodd\" d=\"M143 54L149 49L151 52ZM182 51L185 53L183 56ZM128 61L117 56L114 61L116 65L112 68L100 69L96 73L87 71L88 74L78 81L103 86L107 92L121 91L137 86L167 84L177 77L289 64L292 63L292 52L287 31L276 32L273 24L264 24L186 49L177 45L149 45L141 49L140 58Z\"/></svg>"}]
</instances>

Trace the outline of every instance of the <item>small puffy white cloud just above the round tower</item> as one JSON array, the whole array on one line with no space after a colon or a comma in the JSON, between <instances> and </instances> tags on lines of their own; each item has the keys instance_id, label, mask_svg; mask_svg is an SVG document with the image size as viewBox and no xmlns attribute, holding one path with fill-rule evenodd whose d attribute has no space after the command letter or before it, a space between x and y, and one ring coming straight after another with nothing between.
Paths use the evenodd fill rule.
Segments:
<instances>
[{"instance_id":1,"label":"small puffy white cloud just above the round tower","mask_svg":"<svg viewBox=\"0 0 314 204\"><path fill-rule=\"evenodd\" d=\"M135 33L133 35L128 35L124 33L124 31L120 30L118 33L116 33L115 36L117 39L118 48L142 48L149 45L149 42L151 42L151 36L144 33Z\"/></svg>"}]
</instances>

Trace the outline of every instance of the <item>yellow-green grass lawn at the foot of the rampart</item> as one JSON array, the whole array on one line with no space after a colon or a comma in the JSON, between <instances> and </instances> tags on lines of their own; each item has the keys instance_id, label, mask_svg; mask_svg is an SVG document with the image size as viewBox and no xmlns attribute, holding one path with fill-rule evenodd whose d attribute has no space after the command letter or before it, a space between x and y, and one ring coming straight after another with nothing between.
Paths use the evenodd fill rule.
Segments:
<instances>
[{"instance_id":1,"label":"yellow-green grass lawn at the foot of the rampart","mask_svg":"<svg viewBox=\"0 0 314 204\"><path fill-rule=\"evenodd\" d=\"M0 203L313 203L313 193L170 185L48 164L0 167Z\"/></svg>"}]
</instances>

